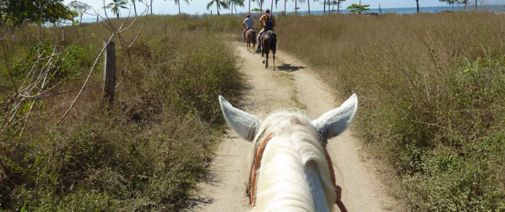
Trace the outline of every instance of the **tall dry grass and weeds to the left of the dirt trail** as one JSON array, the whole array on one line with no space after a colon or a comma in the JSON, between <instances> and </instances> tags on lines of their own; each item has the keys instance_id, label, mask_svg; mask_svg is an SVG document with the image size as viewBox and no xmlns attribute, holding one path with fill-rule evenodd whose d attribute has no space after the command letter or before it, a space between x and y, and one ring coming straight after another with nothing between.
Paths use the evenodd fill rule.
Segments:
<instances>
[{"instance_id":1,"label":"tall dry grass and weeds to the left of the dirt trail","mask_svg":"<svg viewBox=\"0 0 505 212\"><path fill-rule=\"evenodd\" d=\"M99 67L69 118L57 127L83 82L79 76L90 69L89 60L109 33L100 24L68 27L66 41L61 42L55 33L59 29L42 29L47 45L61 47L83 33L78 47L87 50L85 55L77 51L68 61L74 78L40 100L19 140L16 127L0 134L0 211L184 207L196 181L205 175L220 135L217 97L235 99L242 85L232 51L220 36L229 30L230 21L239 20L148 17L141 37L128 51L115 40L121 81L115 107L102 109ZM13 49L1 56L6 61L0 65L5 93L16 83L7 72L26 71L23 64L30 62L30 49L38 43L37 30L22 28L5 43L6 49ZM131 62L126 67L128 54ZM5 93L0 101L8 99Z\"/></svg>"}]
</instances>

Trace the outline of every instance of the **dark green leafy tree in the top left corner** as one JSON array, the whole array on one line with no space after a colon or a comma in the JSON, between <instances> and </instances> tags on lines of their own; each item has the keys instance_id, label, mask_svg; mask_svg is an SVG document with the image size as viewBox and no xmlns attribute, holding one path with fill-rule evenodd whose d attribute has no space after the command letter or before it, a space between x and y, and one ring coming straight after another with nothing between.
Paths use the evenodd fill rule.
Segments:
<instances>
[{"instance_id":1,"label":"dark green leafy tree in the top left corner","mask_svg":"<svg viewBox=\"0 0 505 212\"><path fill-rule=\"evenodd\" d=\"M78 13L64 5L64 0L1 0L0 23L57 23L73 20Z\"/></svg>"}]
</instances>

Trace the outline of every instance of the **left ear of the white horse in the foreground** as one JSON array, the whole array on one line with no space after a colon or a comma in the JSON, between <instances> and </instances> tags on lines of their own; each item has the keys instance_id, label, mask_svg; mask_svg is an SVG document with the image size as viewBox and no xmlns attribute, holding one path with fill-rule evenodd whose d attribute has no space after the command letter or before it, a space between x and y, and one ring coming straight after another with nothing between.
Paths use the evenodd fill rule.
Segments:
<instances>
[{"instance_id":1,"label":"left ear of the white horse in the foreground","mask_svg":"<svg viewBox=\"0 0 505 212\"><path fill-rule=\"evenodd\" d=\"M252 141L261 125L261 120L247 112L239 110L219 95L222 114L234 131L246 141Z\"/></svg>"}]
</instances>

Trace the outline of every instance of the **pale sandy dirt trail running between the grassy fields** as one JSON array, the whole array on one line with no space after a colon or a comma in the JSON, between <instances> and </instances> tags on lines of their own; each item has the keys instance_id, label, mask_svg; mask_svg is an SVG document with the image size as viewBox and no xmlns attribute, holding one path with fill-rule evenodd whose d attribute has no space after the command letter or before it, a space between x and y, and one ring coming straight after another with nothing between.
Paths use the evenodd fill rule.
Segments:
<instances>
[{"instance_id":1,"label":"pale sandy dirt trail running between the grassy fields","mask_svg":"<svg viewBox=\"0 0 505 212\"><path fill-rule=\"evenodd\" d=\"M260 119L275 110L292 107L301 108L316 119L343 102L344 98L335 101L330 88L314 71L290 55L277 52L278 70L272 71L261 64L261 54L250 54L238 42L234 49L248 85L244 102L236 106ZM351 134L347 129L328 141L337 184L343 188L344 204L348 211L394 210L393 198L385 192L372 165L360 158L360 147ZM198 198L189 211L249 211L249 200L244 196L245 155L249 148L249 142L227 130L217 156L210 163L212 177L198 185Z\"/></svg>"}]
</instances>

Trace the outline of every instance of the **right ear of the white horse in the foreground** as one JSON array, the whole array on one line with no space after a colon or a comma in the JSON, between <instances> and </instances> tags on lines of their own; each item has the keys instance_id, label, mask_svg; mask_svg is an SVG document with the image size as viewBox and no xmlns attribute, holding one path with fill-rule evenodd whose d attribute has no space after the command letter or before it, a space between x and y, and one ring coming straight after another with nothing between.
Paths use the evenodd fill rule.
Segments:
<instances>
[{"instance_id":1,"label":"right ear of the white horse in the foreground","mask_svg":"<svg viewBox=\"0 0 505 212\"><path fill-rule=\"evenodd\" d=\"M331 139L341 134L349 126L356 110L357 95L354 93L340 107L326 112L311 123L324 139Z\"/></svg>"}]
</instances>

